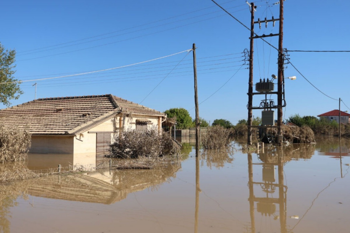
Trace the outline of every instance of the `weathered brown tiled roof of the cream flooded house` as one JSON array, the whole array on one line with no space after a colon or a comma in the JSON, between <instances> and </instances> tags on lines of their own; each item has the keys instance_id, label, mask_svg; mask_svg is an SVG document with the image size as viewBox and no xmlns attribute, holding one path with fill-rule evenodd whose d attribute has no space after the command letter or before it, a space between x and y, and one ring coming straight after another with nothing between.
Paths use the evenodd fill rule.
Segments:
<instances>
[{"instance_id":1,"label":"weathered brown tiled roof of the cream flooded house","mask_svg":"<svg viewBox=\"0 0 350 233\"><path fill-rule=\"evenodd\" d=\"M108 95L37 99L0 110L6 128L30 125L32 134L78 134L123 112L165 116L162 112Z\"/></svg>"}]
</instances>

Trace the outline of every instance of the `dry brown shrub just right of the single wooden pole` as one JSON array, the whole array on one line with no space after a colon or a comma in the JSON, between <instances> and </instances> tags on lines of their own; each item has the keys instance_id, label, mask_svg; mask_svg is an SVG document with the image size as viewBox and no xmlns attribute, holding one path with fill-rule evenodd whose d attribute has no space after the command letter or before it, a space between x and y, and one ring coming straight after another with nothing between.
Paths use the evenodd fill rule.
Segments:
<instances>
[{"instance_id":1,"label":"dry brown shrub just right of the single wooden pole","mask_svg":"<svg viewBox=\"0 0 350 233\"><path fill-rule=\"evenodd\" d=\"M231 130L222 126L212 126L208 128L207 134L203 138L205 149L222 149L231 144Z\"/></svg>"}]
</instances>

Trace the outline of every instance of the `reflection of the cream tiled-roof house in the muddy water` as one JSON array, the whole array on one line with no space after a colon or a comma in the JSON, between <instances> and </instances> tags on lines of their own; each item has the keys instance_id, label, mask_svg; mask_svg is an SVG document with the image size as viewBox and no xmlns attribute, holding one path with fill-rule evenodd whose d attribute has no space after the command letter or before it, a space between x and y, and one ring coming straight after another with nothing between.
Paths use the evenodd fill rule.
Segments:
<instances>
[{"instance_id":1,"label":"reflection of the cream tiled-roof house in the muddy water","mask_svg":"<svg viewBox=\"0 0 350 233\"><path fill-rule=\"evenodd\" d=\"M99 170L92 173L51 175L34 180L28 188L31 196L112 204L131 192L153 188L175 177L180 163L155 169Z\"/></svg>"}]
</instances>

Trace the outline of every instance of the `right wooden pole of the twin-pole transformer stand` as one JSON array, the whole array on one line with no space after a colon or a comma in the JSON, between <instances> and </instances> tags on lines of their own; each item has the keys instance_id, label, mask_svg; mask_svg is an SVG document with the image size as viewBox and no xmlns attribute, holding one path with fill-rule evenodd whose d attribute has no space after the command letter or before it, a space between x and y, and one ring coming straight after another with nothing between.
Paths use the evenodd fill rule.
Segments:
<instances>
[{"instance_id":1,"label":"right wooden pole of the twin-pole transformer stand","mask_svg":"<svg viewBox=\"0 0 350 233\"><path fill-rule=\"evenodd\" d=\"M278 37L278 89L277 89L277 129L278 129L278 137L277 143L279 146L282 145L283 142L283 134L282 134L282 94L283 94L283 66L284 66L284 58L283 58L283 0L280 1L280 23L279 23L279 37Z\"/></svg>"}]
</instances>

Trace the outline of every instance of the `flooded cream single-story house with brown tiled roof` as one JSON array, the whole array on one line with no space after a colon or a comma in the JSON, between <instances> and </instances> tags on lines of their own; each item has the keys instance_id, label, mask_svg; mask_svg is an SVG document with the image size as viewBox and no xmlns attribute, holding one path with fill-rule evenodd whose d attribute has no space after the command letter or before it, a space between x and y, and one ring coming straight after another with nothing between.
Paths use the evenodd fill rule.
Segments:
<instances>
[{"instance_id":1,"label":"flooded cream single-story house with brown tiled roof","mask_svg":"<svg viewBox=\"0 0 350 233\"><path fill-rule=\"evenodd\" d=\"M90 156L97 164L120 130L161 132L165 120L160 111L111 94L37 99L0 110L6 128L29 125L29 153Z\"/></svg>"}]
</instances>

